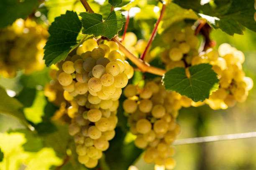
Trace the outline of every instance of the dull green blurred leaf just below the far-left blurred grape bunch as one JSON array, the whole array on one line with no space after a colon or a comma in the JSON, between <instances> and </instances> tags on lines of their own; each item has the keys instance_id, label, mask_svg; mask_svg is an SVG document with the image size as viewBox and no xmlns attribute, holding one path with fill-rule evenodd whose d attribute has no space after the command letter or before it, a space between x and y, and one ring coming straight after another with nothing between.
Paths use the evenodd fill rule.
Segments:
<instances>
[{"instance_id":1,"label":"dull green blurred leaf just below the far-left blurred grape bunch","mask_svg":"<svg viewBox=\"0 0 256 170\"><path fill-rule=\"evenodd\" d=\"M28 88L38 88L38 85L41 85L41 88L43 88L50 80L49 68L44 68L41 71L33 72L31 75L22 75L20 77L20 83Z\"/></svg>"}]
</instances>

